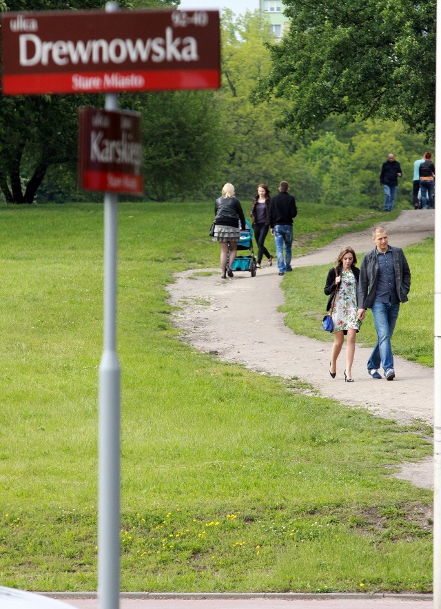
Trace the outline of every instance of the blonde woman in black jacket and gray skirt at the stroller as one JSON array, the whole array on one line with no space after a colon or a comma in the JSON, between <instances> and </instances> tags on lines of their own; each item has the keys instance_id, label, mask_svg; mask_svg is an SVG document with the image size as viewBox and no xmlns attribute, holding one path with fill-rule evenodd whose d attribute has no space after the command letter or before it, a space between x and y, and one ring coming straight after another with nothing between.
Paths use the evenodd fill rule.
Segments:
<instances>
[{"instance_id":1,"label":"blonde woman in black jacket and gray skirt at the stroller","mask_svg":"<svg viewBox=\"0 0 441 609\"><path fill-rule=\"evenodd\" d=\"M239 222L242 225L242 230L245 230L245 216L243 215L242 207L234 196L234 186L225 184L222 189L222 196L216 199L214 205L214 241L218 241L220 245L220 268L222 269L222 278L233 277L231 269L234 259L236 258L237 242L240 238ZM227 267L229 244L229 266Z\"/></svg>"}]
</instances>

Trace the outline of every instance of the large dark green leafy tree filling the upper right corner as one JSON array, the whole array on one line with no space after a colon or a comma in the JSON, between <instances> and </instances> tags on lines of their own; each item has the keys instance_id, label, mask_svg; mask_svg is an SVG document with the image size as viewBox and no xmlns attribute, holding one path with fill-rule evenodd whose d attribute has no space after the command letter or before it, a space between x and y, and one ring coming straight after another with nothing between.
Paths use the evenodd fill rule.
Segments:
<instances>
[{"instance_id":1,"label":"large dark green leafy tree filling the upper right corner","mask_svg":"<svg viewBox=\"0 0 441 609\"><path fill-rule=\"evenodd\" d=\"M252 99L289 100L280 125L401 120L431 136L435 116L435 0L284 0L289 32L271 45L271 72Z\"/></svg>"}]
</instances>

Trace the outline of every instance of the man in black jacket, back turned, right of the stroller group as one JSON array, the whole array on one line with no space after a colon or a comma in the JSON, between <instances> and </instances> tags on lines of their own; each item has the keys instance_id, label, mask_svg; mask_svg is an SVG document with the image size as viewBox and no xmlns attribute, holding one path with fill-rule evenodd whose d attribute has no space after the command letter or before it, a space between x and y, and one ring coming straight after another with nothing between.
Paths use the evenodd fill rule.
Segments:
<instances>
[{"instance_id":1,"label":"man in black jacket, back turned, right of the stroller group","mask_svg":"<svg viewBox=\"0 0 441 609\"><path fill-rule=\"evenodd\" d=\"M292 271L291 250L293 228L292 219L297 216L296 200L289 194L289 184L280 182L279 194L269 201L269 226L276 242L278 274L284 275ZM285 245L285 260L283 259Z\"/></svg>"}]
</instances>

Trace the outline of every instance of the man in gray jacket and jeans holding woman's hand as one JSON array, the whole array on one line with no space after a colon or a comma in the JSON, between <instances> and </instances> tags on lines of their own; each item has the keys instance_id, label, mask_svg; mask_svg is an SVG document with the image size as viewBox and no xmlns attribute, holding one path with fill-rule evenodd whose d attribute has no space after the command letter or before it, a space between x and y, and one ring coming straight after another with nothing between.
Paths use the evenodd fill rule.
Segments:
<instances>
[{"instance_id":1,"label":"man in gray jacket and jeans holding woman's hand","mask_svg":"<svg viewBox=\"0 0 441 609\"><path fill-rule=\"evenodd\" d=\"M372 378L381 378L380 364L387 380L395 378L391 338L395 329L400 302L407 302L411 289L411 271L400 247L389 245L387 230L374 227L372 240L375 243L361 261L358 280L358 319L365 318L366 309L372 309L377 331L377 344L367 362L367 371Z\"/></svg>"}]
</instances>

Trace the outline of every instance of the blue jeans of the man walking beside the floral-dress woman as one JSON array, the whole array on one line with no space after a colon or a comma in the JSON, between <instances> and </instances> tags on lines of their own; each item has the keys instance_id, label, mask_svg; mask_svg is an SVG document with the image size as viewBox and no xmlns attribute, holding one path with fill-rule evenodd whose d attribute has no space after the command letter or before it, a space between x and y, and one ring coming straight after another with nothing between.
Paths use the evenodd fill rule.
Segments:
<instances>
[{"instance_id":1,"label":"blue jeans of the man walking beside the floral-dress woman","mask_svg":"<svg viewBox=\"0 0 441 609\"><path fill-rule=\"evenodd\" d=\"M377 344L367 362L368 370L378 370L382 364L384 373L393 369L391 338L400 312L400 304L377 302L372 305L373 323L377 331Z\"/></svg>"}]
</instances>

